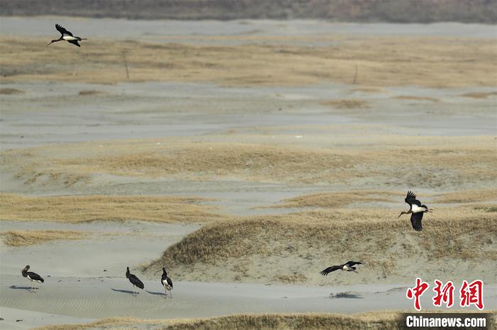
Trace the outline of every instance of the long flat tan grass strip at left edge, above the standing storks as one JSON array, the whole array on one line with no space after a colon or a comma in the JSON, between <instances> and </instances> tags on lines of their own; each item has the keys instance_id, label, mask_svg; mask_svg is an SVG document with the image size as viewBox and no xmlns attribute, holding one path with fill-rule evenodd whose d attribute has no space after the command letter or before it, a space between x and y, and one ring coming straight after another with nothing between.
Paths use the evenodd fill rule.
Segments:
<instances>
[{"instance_id":1,"label":"long flat tan grass strip at left edge, above the standing storks","mask_svg":"<svg viewBox=\"0 0 497 330\"><path fill-rule=\"evenodd\" d=\"M0 220L53 222L126 221L209 222L222 220L202 198L170 196L50 196L0 194Z\"/></svg>"}]
</instances>

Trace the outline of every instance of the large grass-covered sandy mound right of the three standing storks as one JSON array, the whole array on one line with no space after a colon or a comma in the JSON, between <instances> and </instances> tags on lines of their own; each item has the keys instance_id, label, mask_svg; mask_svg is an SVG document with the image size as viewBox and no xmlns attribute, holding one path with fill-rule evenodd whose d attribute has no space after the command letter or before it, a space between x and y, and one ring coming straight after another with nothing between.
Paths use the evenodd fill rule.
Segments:
<instances>
[{"instance_id":1,"label":"large grass-covered sandy mound right of the three standing storks","mask_svg":"<svg viewBox=\"0 0 497 330\"><path fill-rule=\"evenodd\" d=\"M178 280L219 280L210 267L224 275L243 275L257 282L324 283L317 274L330 261L360 258L368 261L372 278L405 274L403 260L430 263L484 264L497 260L497 215L461 207L438 208L425 217L425 229L415 232L399 210L313 210L290 215L246 217L208 224L170 246L163 256L143 268L155 274L168 265ZM351 239L352 238L352 239ZM255 265L255 266L254 266ZM239 270L249 268L241 273ZM295 277L278 279L275 274ZM420 268L430 278L439 269Z\"/></svg>"}]
</instances>

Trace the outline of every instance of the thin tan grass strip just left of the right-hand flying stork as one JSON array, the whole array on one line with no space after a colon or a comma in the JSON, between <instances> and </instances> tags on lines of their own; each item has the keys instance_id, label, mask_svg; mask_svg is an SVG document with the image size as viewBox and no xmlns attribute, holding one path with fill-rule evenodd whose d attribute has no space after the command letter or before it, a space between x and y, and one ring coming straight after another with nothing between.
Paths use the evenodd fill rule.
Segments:
<instances>
[{"instance_id":1,"label":"thin tan grass strip just left of the right-hand flying stork","mask_svg":"<svg viewBox=\"0 0 497 330\"><path fill-rule=\"evenodd\" d=\"M352 203L395 202L402 200L400 194L389 191L340 191L333 193L314 193L283 200L282 204L272 207L345 207ZM392 197L396 196L396 199Z\"/></svg>"}]
</instances>

